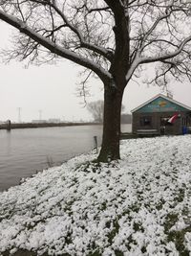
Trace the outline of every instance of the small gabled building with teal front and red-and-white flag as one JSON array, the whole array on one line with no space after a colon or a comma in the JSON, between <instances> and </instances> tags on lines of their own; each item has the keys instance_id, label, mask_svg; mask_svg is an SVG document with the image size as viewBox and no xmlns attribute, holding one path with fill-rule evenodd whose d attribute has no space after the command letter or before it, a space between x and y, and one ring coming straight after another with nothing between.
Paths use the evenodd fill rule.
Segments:
<instances>
[{"instance_id":1,"label":"small gabled building with teal front and red-and-white flag","mask_svg":"<svg viewBox=\"0 0 191 256\"><path fill-rule=\"evenodd\" d=\"M138 135L179 135L191 131L191 107L162 94L132 110L132 132Z\"/></svg>"}]
</instances>

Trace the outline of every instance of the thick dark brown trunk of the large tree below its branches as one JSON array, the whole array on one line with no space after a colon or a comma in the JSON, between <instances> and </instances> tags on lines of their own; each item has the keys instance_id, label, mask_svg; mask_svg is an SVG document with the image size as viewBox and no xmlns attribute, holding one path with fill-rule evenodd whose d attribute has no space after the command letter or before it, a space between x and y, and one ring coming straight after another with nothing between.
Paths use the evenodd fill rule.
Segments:
<instances>
[{"instance_id":1,"label":"thick dark brown trunk of the large tree below its branches","mask_svg":"<svg viewBox=\"0 0 191 256\"><path fill-rule=\"evenodd\" d=\"M122 104L123 90L119 91L114 83L105 86L104 89L104 117L103 136L101 151L97 160L109 162L120 158L120 112Z\"/></svg>"}]
</instances>

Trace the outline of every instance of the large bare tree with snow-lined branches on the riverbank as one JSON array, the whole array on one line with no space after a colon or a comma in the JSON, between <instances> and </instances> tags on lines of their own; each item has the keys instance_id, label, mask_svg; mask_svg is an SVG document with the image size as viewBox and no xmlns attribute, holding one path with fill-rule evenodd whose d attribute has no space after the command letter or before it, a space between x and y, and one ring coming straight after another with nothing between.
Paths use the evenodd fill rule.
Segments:
<instances>
[{"instance_id":1,"label":"large bare tree with snow-lined branches on the riverbank","mask_svg":"<svg viewBox=\"0 0 191 256\"><path fill-rule=\"evenodd\" d=\"M119 158L123 91L146 64L146 82L191 81L190 10L188 0L0 0L0 19L21 33L10 58L67 58L103 82L100 161Z\"/></svg>"}]
</instances>

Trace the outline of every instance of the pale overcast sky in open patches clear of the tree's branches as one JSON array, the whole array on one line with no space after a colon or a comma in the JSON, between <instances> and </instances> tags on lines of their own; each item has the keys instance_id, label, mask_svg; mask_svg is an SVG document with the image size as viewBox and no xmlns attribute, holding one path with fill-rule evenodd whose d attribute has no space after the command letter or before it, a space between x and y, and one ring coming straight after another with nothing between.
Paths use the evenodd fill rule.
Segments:
<instances>
[{"instance_id":1,"label":"pale overcast sky in open patches clear of the tree's branches","mask_svg":"<svg viewBox=\"0 0 191 256\"><path fill-rule=\"evenodd\" d=\"M0 21L0 48L9 46L11 28ZM60 118L61 120L90 120L92 117L86 107L81 105L83 99L76 97L79 68L68 60L56 65L30 66L24 68L22 62L0 62L0 121L18 121L18 107L21 109L23 122L39 119ZM102 84L98 80L89 82L91 97L88 102L103 98ZM172 83L174 99L191 106L191 84ZM123 105L125 112L141 105L161 93L159 87L147 87L130 82L126 87Z\"/></svg>"}]
</instances>

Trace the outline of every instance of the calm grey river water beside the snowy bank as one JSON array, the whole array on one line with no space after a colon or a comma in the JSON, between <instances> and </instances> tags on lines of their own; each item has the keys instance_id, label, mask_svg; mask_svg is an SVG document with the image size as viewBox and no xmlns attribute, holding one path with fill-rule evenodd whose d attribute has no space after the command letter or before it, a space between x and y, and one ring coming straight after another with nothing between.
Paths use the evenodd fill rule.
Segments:
<instances>
[{"instance_id":1,"label":"calm grey river water beside the snowy bank","mask_svg":"<svg viewBox=\"0 0 191 256\"><path fill-rule=\"evenodd\" d=\"M122 125L123 132L131 125ZM0 191L101 144L102 126L0 130Z\"/></svg>"}]
</instances>

